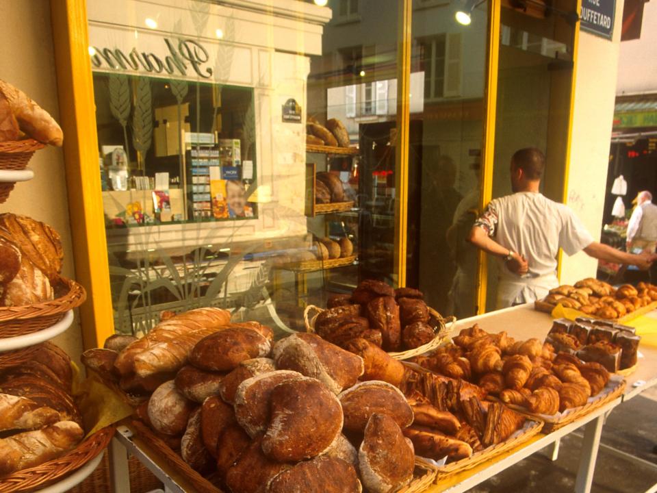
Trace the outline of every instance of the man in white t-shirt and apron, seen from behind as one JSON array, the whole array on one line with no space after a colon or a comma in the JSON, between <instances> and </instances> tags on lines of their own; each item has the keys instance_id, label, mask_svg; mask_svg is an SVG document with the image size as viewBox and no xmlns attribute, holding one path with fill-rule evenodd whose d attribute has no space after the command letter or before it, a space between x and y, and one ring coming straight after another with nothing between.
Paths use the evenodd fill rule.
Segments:
<instances>
[{"instance_id":1,"label":"man in white t-shirt and apron, seen from behind","mask_svg":"<svg viewBox=\"0 0 657 493\"><path fill-rule=\"evenodd\" d=\"M587 255L645 270L657 255L632 255L593 241L574 212L543 197L539 185L545 155L539 149L520 149L511 158L513 194L493 199L470 230L468 240L500 259L497 307L529 303L558 286L559 249L567 255Z\"/></svg>"}]
</instances>

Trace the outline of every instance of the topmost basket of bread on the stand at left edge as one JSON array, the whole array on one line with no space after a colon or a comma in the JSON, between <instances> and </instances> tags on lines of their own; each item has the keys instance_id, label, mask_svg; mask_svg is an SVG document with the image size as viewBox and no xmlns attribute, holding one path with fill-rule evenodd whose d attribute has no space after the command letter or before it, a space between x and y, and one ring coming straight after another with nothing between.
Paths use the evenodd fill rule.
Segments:
<instances>
[{"instance_id":1,"label":"topmost basket of bread on the stand at left edge","mask_svg":"<svg viewBox=\"0 0 657 493\"><path fill-rule=\"evenodd\" d=\"M62 129L47 111L8 82L0 80L0 203L14 188L12 173L45 144L61 146Z\"/></svg>"}]
</instances>

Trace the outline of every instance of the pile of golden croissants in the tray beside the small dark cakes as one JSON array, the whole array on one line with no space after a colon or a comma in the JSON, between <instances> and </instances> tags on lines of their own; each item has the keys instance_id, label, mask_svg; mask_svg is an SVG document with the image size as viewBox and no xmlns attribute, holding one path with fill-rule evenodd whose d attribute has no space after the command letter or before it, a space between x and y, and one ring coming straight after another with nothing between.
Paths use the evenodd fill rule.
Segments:
<instances>
[{"instance_id":1,"label":"pile of golden croissants in the tray beside the small dark cakes","mask_svg":"<svg viewBox=\"0 0 657 493\"><path fill-rule=\"evenodd\" d=\"M543 415L585 405L610 377L601 364L554 353L548 342L515 341L506 332L491 334L478 325L415 362L441 375L476 382L504 403Z\"/></svg>"}]
</instances>

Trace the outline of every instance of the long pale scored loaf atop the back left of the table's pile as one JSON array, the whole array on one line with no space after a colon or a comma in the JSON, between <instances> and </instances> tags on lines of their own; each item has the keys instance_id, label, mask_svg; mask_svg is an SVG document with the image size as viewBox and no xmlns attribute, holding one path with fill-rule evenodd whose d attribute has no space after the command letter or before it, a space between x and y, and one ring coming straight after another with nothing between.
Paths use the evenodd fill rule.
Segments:
<instances>
[{"instance_id":1,"label":"long pale scored loaf atop the back left of the table's pile","mask_svg":"<svg viewBox=\"0 0 657 493\"><path fill-rule=\"evenodd\" d=\"M198 341L230 323L231 314L219 308L198 308L163 320L140 340L118 354L114 366L121 375L141 377L179 370Z\"/></svg>"}]
</instances>

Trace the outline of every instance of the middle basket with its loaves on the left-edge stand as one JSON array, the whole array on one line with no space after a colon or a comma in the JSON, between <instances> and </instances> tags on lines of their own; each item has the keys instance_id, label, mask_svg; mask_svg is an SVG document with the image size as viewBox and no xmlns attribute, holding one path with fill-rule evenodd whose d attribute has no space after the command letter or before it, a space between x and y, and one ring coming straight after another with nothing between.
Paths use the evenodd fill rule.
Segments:
<instances>
[{"instance_id":1,"label":"middle basket with its loaves on the left-edge stand","mask_svg":"<svg viewBox=\"0 0 657 493\"><path fill-rule=\"evenodd\" d=\"M83 303L84 288L61 276L63 257L49 225L0 214L0 338L50 327Z\"/></svg>"}]
</instances>

